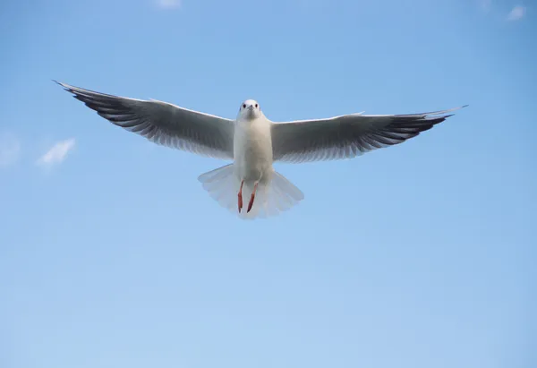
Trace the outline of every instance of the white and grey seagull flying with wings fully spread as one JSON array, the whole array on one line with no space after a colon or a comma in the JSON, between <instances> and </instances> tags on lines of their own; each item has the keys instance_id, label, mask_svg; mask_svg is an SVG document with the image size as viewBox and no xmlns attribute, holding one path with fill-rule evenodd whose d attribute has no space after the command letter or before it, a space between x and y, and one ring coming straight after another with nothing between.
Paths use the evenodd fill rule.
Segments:
<instances>
[{"instance_id":1,"label":"white and grey seagull flying with wings fully spread","mask_svg":"<svg viewBox=\"0 0 537 368\"><path fill-rule=\"evenodd\" d=\"M231 160L198 180L213 199L239 218L274 216L303 200L302 191L274 170L274 162L355 158L413 138L462 108L274 123L253 99L245 100L232 120L154 99L124 98L55 82L99 116L149 141Z\"/></svg>"}]
</instances>

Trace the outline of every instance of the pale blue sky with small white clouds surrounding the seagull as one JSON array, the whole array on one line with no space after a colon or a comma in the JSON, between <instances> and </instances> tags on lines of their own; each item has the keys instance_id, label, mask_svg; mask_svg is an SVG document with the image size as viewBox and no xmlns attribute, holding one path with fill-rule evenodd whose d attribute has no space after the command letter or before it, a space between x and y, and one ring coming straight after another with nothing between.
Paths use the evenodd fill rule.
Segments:
<instances>
[{"instance_id":1,"label":"pale blue sky with small white clouds surrounding the seagull","mask_svg":"<svg viewBox=\"0 0 537 368\"><path fill-rule=\"evenodd\" d=\"M0 366L537 366L535 9L2 2ZM255 98L275 121L470 106L361 158L277 165L305 200L251 222L197 181L224 161L52 79L231 118Z\"/></svg>"}]
</instances>

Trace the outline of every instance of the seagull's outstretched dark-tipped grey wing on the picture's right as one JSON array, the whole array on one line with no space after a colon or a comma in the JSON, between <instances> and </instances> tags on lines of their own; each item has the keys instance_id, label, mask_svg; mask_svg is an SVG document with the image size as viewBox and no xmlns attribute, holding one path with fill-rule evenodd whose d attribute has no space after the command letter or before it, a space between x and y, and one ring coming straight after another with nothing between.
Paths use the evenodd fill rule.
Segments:
<instances>
[{"instance_id":1,"label":"seagull's outstretched dark-tipped grey wing on the picture's right","mask_svg":"<svg viewBox=\"0 0 537 368\"><path fill-rule=\"evenodd\" d=\"M459 108L462 107L411 115L352 114L275 123L271 127L274 160L299 163L354 158L413 138Z\"/></svg>"}]
</instances>

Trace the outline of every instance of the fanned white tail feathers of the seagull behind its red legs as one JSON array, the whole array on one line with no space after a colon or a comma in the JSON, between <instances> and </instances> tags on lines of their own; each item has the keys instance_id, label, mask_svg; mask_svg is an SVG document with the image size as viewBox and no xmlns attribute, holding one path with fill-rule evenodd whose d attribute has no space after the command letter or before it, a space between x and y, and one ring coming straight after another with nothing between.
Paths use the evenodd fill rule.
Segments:
<instances>
[{"instance_id":1,"label":"fanned white tail feathers of the seagull behind its red legs","mask_svg":"<svg viewBox=\"0 0 537 368\"><path fill-rule=\"evenodd\" d=\"M239 218L244 219L277 216L280 212L289 210L304 198L300 189L289 182L284 175L275 171L272 175L272 180L268 184L258 185L250 212L247 212L247 208L253 187L248 184L243 185L244 207L241 213L239 213L237 195L241 182L237 175L234 175L233 164L218 167L217 169L201 174L198 180L211 198L217 201L222 207L236 214Z\"/></svg>"}]
</instances>

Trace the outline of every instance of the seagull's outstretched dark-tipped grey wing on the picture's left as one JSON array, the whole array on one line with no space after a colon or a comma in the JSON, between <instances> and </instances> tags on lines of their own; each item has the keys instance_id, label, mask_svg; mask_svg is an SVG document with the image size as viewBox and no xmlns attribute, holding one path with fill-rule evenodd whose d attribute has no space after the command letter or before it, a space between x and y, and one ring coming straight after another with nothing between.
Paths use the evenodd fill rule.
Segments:
<instances>
[{"instance_id":1,"label":"seagull's outstretched dark-tipped grey wing on the picture's left","mask_svg":"<svg viewBox=\"0 0 537 368\"><path fill-rule=\"evenodd\" d=\"M157 100L118 97L56 83L99 116L149 141L201 156L233 159L232 120Z\"/></svg>"}]
</instances>

